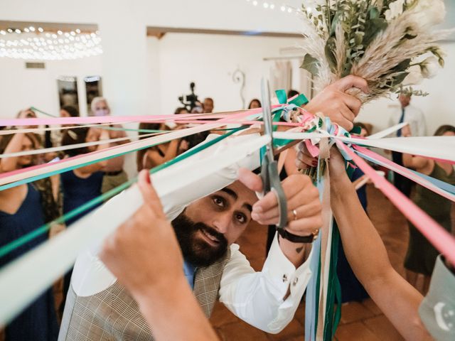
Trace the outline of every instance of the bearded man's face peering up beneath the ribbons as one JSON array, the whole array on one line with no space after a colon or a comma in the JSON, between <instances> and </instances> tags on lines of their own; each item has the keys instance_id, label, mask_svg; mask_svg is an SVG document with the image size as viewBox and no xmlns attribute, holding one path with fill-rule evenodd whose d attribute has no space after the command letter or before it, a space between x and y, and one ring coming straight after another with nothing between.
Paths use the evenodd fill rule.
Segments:
<instances>
[{"instance_id":1,"label":"bearded man's face peering up beneath the ribbons","mask_svg":"<svg viewBox=\"0 0 455 341\"><path fill-rule=\"evenodd\" d=\"M251 221L255 193L236 181L186 207L172 225L183 257L195 266L220 259Z\"/></svg>"}]
</instances>

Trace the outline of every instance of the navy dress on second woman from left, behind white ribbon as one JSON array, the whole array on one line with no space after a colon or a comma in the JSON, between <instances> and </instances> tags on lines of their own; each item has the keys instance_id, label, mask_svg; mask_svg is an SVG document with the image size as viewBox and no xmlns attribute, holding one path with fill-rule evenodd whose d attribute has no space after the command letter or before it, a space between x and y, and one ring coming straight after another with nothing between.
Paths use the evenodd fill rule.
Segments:
<instances>
[{"instance_id":1,"label":"navy dress on second woman from left, behind white ribbon","mask_svg":"<svg viewBox=\"0 0 455 341\"><path fill-rule=\"evenodd\" d=\"M88 178L79 178L73 171L62 173L60 175L60 183L63 190L63 214L66 215L86 202L95 199L95 197L99 197L101 195L103 175L103 172L95 172ZM70 226L73 222L80 220L80 218L92 212L92 210L95 210L100 205L101 203L66 220L66 226ZM60 305L60 313L62 314L65 309L66 294L70 288L71 274L73 274L73 269L70 269L63 278L63 300Z\"/></svg>"}]
</instances>

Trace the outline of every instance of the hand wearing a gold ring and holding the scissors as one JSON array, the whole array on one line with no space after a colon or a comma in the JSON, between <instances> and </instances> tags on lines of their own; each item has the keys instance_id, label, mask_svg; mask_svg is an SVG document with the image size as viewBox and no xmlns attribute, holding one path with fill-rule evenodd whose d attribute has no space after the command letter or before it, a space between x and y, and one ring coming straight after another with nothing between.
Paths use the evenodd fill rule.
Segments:
<instances>
[{"instance_id":1,"label":"hand wearing a gold ring and holding the scissors","mask_svg":"<svg viewBox=\"0 0 455 341\"><path fill-rule=\"evenodd\" d=\"M239 180L250 190L262 191L262 179L245 168L240 169ZM319 191L311 183L310 178L301 174L289 175L282 181L282 186L287 199L286 229L291 234L299 236L309 236L315 229L320 229L322 215ZM277 196L273 192L267 193L253 205L251 216L259 224L277 224L279 217Z\"/></svg>"}]
</instances>

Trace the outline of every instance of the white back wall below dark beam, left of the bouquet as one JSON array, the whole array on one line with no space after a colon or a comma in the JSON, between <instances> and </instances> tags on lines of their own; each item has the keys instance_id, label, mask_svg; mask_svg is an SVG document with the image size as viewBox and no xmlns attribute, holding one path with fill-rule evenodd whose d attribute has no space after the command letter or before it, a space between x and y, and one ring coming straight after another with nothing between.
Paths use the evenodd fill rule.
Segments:
<instances>
[{"instance_id":1,"label":"white back wall below dark beam, left of the bouquet","mask_svg":"<svg viewBox=\"0 0 455 341\"><path fill-rule=\"evenodd\" d=\"M149 44L156 46L156 38ZM274 64L264 57L279 55L281 48L294 45L297 38L221 36L207 34L166 34L158 43L161 113L171 114L181 106L178 96L189 94L190 82L202 100L213 97L215 111L242 108L240 84L232 80L237 67L245 73L245 105L260 98L261 77L269 76ZM298 87L299 79L294 84Z\"/></svg>"}]
</instances>

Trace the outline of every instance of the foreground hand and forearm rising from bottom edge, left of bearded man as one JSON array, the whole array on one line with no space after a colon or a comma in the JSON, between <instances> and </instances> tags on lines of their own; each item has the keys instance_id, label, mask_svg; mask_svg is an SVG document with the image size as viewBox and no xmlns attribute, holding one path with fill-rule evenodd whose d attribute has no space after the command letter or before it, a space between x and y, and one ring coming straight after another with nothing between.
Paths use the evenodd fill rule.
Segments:
<instances>
[{"instance_id":1,"label":"foreground hand and forearm rising from bottom edge, left of bearded man","mask_svg":"<svg viewBox=\"0 0 455 341\"><path fill-rule=\"evenodd\" d=\"M132 293L156 340L218 340L186 281L176 236L148 179L147 171L139 174L144 205L106 240L101 259Z\"/></svg>"}]
</instances>

